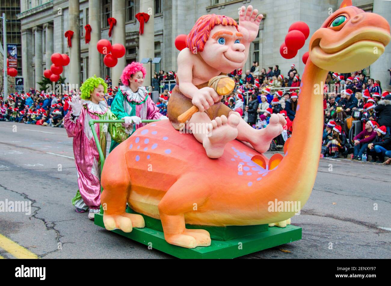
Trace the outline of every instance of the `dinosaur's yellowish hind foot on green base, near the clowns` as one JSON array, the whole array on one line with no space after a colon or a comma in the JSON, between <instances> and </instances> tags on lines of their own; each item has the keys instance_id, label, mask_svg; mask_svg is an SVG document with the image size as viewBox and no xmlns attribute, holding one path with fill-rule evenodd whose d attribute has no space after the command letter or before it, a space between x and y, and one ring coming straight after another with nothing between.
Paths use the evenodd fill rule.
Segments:
<instances>
[{"instance_id":1,"label":"dinosaur's yellowish hind foot on green base, near the clowns","mask_svg":"<svg viewBox=\"0 0 391 286\"><path fill-rule=\"evenodd\" d=\"M123 232L131 232L133 227L145 227L144 218L141 215L122 213L121 215L103 215L104 227L108 231L120 229Z\"/></svg>"}]
</instances>

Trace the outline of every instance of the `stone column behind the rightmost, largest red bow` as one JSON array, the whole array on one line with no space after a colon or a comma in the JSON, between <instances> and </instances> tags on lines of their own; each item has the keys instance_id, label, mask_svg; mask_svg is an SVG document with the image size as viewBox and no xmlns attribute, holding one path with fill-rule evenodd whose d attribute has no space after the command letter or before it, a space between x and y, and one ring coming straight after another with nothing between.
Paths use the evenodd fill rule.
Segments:
<instances>
[{"instance_id":1,"label":"stone column behind the rightmost, largest red bow","mask_svg":"<svg viewBox=\"0 0 391 286\"><path fill-rule=\"evenodd\" d=\"M140 13L148 13L152 7L152 11L154 11L154 1L153 0L145 0L140 1ZM138 25L140 25L138 23ZM138 26L139 27L139 26ZM147 23L144 23L144 33L140 35L139 41L139 54L138 59L141 61L143 57L149 57L153 59L155 57L155 29L154 29L154 15L150 15ZM151 67L150 63L143 64L145 70L147 70L147 74L145 75L144 86L151 85ZM153 70L152 70L153 72Z\"/></svg>"}]
</instances>

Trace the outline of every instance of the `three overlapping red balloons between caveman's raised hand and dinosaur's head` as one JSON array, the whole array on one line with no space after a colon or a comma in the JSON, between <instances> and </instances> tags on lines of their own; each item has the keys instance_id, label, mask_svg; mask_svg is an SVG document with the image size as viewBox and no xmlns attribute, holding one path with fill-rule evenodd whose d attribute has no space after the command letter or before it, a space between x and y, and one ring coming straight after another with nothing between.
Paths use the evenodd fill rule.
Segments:
<instances>
[{"instance_id":1,"label":"three overlapping red balloons between caveman's raised hand and dinosaur's head","mask_svg":"<svg viewBox=\"0 0 391 286\"><path fill-rule=\"evenodd\" d=\"M292 59L297 55L310 34L310 28L304 22L296 22L289 27L285 42L280 46L280 54L285 59ZM303 57L304 61L304 57ZM307 60L306 60L307 61Z\"/></svg>"}]
</instances>

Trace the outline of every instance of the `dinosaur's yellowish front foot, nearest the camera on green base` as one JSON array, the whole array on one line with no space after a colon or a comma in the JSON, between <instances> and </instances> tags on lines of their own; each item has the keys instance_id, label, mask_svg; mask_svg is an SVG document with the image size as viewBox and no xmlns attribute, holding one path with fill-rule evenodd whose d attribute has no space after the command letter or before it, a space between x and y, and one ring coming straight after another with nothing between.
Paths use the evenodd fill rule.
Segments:
<instances>
[{"instance_id":1,"label":"dinosaur's yellowish front foot, nearest the camera on green base","mask_svg":"<svg viewBox=\"0 0 391 286\"><path fill-rule=\"evenodd\" d=\"M209 232L204 229L185 229L180 234L165 234L164 238L170 244L186 248L209 246L211 242Z\"/></svg>"}]
</instances>

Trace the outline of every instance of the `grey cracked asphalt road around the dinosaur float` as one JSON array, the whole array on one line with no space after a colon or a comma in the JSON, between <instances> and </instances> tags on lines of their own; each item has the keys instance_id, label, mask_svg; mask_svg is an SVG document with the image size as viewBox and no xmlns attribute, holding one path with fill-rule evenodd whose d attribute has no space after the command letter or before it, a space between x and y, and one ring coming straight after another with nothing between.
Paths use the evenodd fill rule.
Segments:
<instances>
[{"instance_id":1,"label":"grey cracked asphalt road around the dinosaur float","mask_svg":"<svg viewBox=\"0 0 391 286\"><path fill-rule=\"evenodd\" d=\"M312 194L292 218L302 240L242 258L391 258L390 173L391 166L321 159ZM77 188L65 129L0 122L0 201L32 202L30 215L0 213L0 234L41 258L173 258L76 213ZM0 256L14 258L1 248Z\"/></svg>"}]
</instances>

